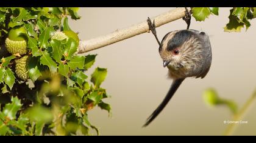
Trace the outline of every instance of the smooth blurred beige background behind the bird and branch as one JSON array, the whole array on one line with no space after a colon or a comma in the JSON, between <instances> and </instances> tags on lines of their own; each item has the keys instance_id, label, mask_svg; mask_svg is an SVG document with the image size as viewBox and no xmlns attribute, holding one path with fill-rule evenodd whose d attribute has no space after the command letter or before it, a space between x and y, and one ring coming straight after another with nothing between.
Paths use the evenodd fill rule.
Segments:
<instances>
[{"instance_id":1,"label":"smooth blurred beige background behind the bird and branch","mask_svg":"<svg viewBox=\"0 0 256 143\"><path fill-rule=\"evenodd\" d=\"M137 24L174 8L80 8L79 21L69 21L80 39L105 35L116 29ZM152 111L162 102L171 85L167 68L163 68L158 44L152 33L144 33L89 53L98 54L95 67L107 67L102 87L112 95L112 118L99 108L88 112L91 123L100 127L101 135L222 135L232 120L226 107L209 108L203 91L215 88L222 98L232 99L241 107L256 88L256 23L245 32L227 33L230 8L219 8L219 16L210 15L204 22L192 18L190 28L210 35L213 61L204 79L186 79L169 104L149 127L141 128ZM159 39L172 31L185 29L179 19L157 28ZM256 104L256 103L254 103ZM233 135L256 135L256 106L238 125Z\"/></svg>"}]
</instances>

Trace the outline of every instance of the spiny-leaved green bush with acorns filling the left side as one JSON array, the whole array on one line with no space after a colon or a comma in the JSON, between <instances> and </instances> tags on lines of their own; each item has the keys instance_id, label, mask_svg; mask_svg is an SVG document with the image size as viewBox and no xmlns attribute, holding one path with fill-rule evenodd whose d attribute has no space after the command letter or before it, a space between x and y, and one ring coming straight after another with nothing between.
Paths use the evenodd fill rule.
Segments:
<instances>
[{"instance_id":1,"label":"spiny-leaved green bush with acorns filling the left side","mask_svg":"<svg viewBox=\"0 0 256 143\"><path fill-rule=\"evenodd\" d=\"M92 135L88 110L109 96L106 68L87 70L96 55L78 55L68 19L79 8L0 8L0 135Z\"/></svg>"}]
</instances>

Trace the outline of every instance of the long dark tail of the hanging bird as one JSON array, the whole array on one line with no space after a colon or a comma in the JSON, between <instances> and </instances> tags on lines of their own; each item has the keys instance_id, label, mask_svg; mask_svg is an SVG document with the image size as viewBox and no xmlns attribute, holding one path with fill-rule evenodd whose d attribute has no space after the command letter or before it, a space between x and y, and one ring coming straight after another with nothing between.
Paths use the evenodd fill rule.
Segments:
<instances>
[{"instance_id":1,"label":"long dark tail of the hanging bird","mask_svg":"<svg viewBox=\"0 0 256 143\"><path fill-rule=\"evenodd\" d=\"M174 93L176 92L177 88L179 88L180 84L182 83L184 79L176 79L172 82L171 88L169 88L169 91L167 95L165 96L165 99L163 99L162 103L155 109L155 111L149 116L149 118L146 121L146 124L143 125L143 127L148 126L156 117L157 115L165 108L165 105L168 104L169 100L172 98Z\"/></svg>"}]
</instances>

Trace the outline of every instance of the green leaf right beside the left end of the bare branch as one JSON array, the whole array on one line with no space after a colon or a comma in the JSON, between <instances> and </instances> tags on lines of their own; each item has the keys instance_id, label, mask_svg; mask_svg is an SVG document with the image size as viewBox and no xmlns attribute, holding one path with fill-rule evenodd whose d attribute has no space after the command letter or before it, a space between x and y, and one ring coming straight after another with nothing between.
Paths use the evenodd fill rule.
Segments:
<instances>
[{"instance_id":1,"label":"green leaf right beside the left end of the bare branch","mask_svg":"<svg viewBox=\"0 0 256 143\"><path fill-rule=\"evenodd\" d=\"M66 59L71 59L73 54L76 53L77 50L77 43L73 38L68 38L68 42L64 48L64 55Z\"/></svg>"}]
</instances>

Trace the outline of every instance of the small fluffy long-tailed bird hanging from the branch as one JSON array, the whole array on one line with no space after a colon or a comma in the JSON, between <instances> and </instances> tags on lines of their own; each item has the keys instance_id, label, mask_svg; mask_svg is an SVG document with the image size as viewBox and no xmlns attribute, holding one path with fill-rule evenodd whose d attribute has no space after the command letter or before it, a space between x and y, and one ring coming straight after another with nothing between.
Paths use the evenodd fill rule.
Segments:
<instances>
[{"instance_id":1,"label":"small fluffy long-tailed bird hanging from the branch","mask_svg":"<svg viewBox=\"0 0 256 143\"><path fill-rule=\"evenodd\" d=\"M151 24L149 29L158 41L155 24L148 22ZM168 68L168 77L173 81L162 103L149 116L143 127L148 126L159 115L185 78L204 78L212 64L212 47L205 32L193 29L174 30L167 33L158 44L163 67Z\"/></svg>"}]
</instances>

